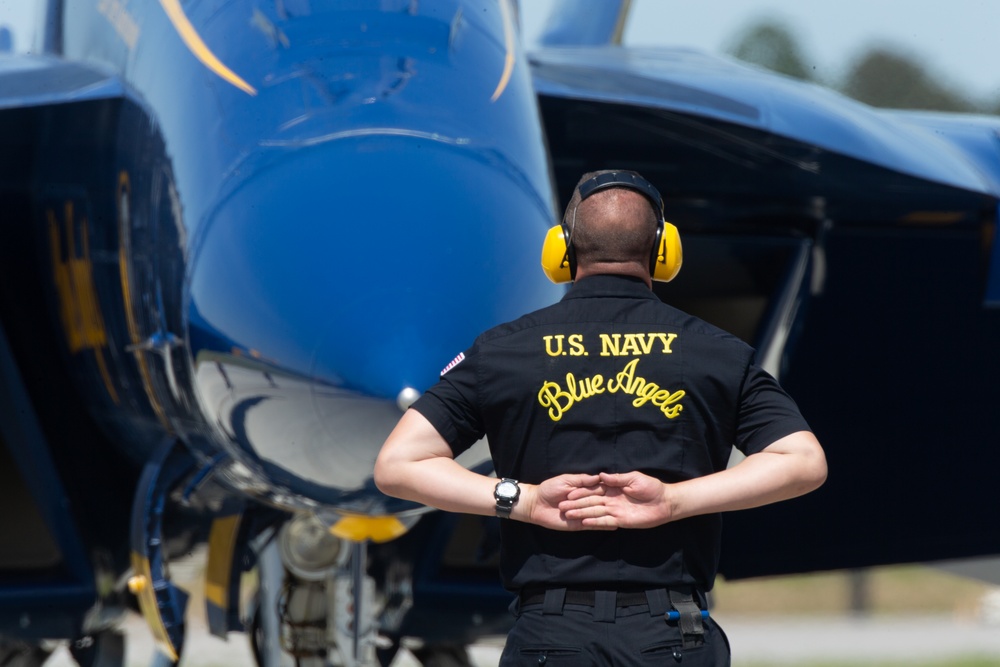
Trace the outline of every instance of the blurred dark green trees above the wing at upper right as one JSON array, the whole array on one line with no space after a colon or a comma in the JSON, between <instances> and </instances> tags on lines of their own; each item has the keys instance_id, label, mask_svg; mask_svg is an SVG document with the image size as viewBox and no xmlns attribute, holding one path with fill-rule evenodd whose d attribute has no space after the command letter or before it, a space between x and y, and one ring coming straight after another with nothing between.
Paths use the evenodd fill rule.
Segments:
<instances>
[{"instance_id":1,"label":"blurred dark green trees above the wing at upper right","mask_svg":"<svg viewBox=\"0 0 1000 667\"><path fill-rule=\"evenodd\" d=\"M974 100L929 71L919 58L888 46L875 46L855 57L839 80L824 80L809 64L795 35L777 22L751 26L736 37L727 52L876 107L1000 115L1000 97Z\"/></svg>"}]
</instances>

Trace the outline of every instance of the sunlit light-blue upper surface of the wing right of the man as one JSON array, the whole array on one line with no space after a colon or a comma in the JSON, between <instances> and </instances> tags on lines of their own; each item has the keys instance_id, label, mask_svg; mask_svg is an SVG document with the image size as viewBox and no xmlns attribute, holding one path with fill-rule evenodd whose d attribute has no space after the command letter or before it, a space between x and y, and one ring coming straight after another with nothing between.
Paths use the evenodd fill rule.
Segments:
<instances>
[{"instance_id":1,"label":"sunlit light-blue upper surface of the wing right of the man","mask_svg":"<svg viewBox=\"0 0 1000 667\"><path fill-rule=\"evenodd\" d=\"M686 49L598 46L549 48L533 53L531 60L543 99L677 114L691 125L727 124L901 174L1000 195L995 155L985 156L994 164L984 169L981 152L956 150L940 127L724 58ZM943 124L939 116L938 125ZM996 126L996 119L974 124L979 132L967 130L965 143L991 147Z\"/></svg>"}]
</instances>

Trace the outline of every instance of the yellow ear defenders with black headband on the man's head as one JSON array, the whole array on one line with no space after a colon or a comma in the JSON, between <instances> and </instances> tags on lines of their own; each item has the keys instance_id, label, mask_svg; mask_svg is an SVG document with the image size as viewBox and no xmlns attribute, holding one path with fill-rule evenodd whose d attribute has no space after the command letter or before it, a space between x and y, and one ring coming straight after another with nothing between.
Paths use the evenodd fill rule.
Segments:
<instances>
[{"instance_id":1,"label":"yellow ear defenders with black headband on the man's head","mask_svg":"<svg viewBox=\"0 0 1000 667\"><path fill-rule=\"evenodd\" d=\"M656 226L656 241L649 257L649 274L653 280L670 282L681 270L683 252L681 235L677 227L663 219L663 198L653 184L638 174L627 171L612 171L594 176L580 184L580 203L607 188L628 188L644 195L653 204L659 222ZM577 206L579 207L579 203ZM568 283L576 277L576 256L573 252L573 227L576 226L576 209L573 209L573 225L565 221L551 228L542 245L542 270L554 283Z\"/></svg>"}]
</instances>

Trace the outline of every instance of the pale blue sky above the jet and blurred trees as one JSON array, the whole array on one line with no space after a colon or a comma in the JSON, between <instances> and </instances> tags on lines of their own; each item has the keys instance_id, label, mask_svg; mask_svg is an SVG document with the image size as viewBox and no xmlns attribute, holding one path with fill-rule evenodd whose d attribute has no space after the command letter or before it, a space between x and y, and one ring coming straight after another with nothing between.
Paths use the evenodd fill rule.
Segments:
<instances>
[{"instance_id":1,"label":"pale blue sky above the jet and blurred trees","mask_svg":"<svg viewBox=\"0 0 1000 667\"><path fill-rule=\"evenodd\" d=\"M39 1L0 0L0 24L14 27L16 51L30 47L23 30ZM554 0L520 4L530 45ZM633 0L625 41L719 53L764 19L780 21L796 35L821 80L836 80L852 58L883 43L974 98L1000 98L1000 0Z\"/></svg>"}]
</instances>

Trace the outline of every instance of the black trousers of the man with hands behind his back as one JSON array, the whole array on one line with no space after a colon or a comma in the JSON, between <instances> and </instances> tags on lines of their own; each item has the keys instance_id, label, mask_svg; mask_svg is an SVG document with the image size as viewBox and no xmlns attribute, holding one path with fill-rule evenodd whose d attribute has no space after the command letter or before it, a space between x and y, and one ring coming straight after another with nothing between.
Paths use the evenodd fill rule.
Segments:
<instances>
[{"instance_id":1,"label":"black trousers of the man with hands behind his back","mask_svg":"<svg viewBox=\"0 0 1000 667\"><path fill-rule=\"evenodd\" d=\"M618 607L608 613L566 604L558 613L544 613L541 604L519 606L515 602L511 610L516 620L507 635L500 667L730 665L729 640L711 618L704 621L704 643L684 648L677 624L668 623L662 614L651 614L646 605Z\"/></svg>"}]
</instances>

